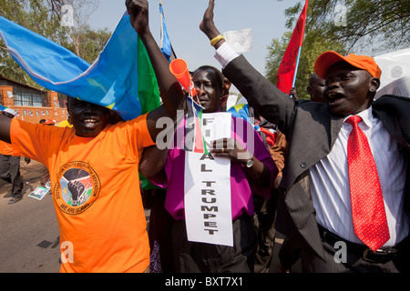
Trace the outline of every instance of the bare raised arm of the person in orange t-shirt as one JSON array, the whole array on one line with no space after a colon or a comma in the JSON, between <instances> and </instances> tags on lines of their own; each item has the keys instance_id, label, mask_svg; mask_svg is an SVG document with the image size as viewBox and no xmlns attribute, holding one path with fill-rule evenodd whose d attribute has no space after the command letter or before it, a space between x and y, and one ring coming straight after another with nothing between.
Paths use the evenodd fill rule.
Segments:
<instances>
[{"instance_id":1,"label":"bare raised arm of the person in orange t-shirt","mask_svg":"<svg viewBox=\"0 0 410 291\"><path fill-rule=\"evenodd\" d=\"M165 116L175 120L177 110L185 109L186 97L177 78L170 73L169 62L162 55L159 46L150 32L148 1L127 0L126 5L131 25L137 31L149 54L149 59L157 76L159 92L163 102L163 105L149 112L147 116L149 134L153 140L156 140L157 135L162 130L162 128L157 128L156 126L159 117Z\"/></svg>"}]
</instances>

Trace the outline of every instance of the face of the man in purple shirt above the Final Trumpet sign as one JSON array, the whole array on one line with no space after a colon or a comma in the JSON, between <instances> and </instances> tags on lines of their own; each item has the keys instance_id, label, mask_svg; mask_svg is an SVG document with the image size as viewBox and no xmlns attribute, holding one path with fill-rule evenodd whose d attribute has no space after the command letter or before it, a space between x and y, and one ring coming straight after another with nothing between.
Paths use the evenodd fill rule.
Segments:
<instances>
[{"instance_id":1,"label":"face of the man in purple shirt above the Final Trumpet sign","mask_svg":"<svg viewBox=\"0 0 410 291\"><path fill-rule=\"evenodd\" d=\"M192 82L197 91L200 105L204 107L203 112L211 113L219 111L221 90L216 89L216 85L211 81L209 73L204 70L198 70L192 76Z\"/></svg>"}]
</instances>

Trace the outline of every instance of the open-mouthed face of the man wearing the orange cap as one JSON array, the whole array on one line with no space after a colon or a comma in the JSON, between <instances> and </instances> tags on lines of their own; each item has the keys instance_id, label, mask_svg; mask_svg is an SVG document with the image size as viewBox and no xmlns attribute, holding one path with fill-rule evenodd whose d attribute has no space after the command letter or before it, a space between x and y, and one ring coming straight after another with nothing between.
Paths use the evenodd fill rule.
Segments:
<instances>
[{"instance_id":1,"label":"open-mouthed face of the man wearing the orange cap","mask_svg":"<svg viewBox=\"0 0 410 291\"><path fill-rule=\"evenodd\" d=\"M367 71L339 62L326 74L323 96L333 115L355 115L372 104L379 85Z\"/></svg>"}]
</instances>

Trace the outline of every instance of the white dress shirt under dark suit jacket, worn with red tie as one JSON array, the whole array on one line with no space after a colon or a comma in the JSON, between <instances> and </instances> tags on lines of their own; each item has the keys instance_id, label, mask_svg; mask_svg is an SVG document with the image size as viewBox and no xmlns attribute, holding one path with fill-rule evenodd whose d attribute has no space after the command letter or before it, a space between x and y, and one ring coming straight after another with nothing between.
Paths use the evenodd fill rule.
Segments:
<instances>
[{"instance_id":1,"label":"white dress shirt under dark suit jacket, worn with red tie","mask_svg":"<svg viewBox=\"0 0 410 291\"><path fill-rule=\"evenodd\" d=\"M225 42L216 50L214 56L224 68L239 54ZM395 246L409 233L409 217L404 210L408 161L403 155L402 146L391 138L381 120L373 115L372 107L358 115L363 118L359 127L369 140L383 191L390 233L390 239L384 246ZM344 121L348 117L346 116ZM310 185L317 223L345 240L363 244L354 235L350 201L347 139L351 131L352 125L344 122L329 155L309 169Z\"/></svg>"}]
</instances>

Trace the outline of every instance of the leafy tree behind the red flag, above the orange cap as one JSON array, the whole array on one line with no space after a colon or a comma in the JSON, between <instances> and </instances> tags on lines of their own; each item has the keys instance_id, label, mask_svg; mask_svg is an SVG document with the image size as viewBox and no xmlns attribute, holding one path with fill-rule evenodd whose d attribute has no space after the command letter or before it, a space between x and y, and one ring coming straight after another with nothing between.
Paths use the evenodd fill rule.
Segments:
<instances>
[{"instance_id":1,"label":"leafy tree behind the red flag, above the orange cap","mask_svg":"<svg viewBox=\"0 0 410 291\"><path fill-rule=\"evenodd\" d=\"M289 32L281 39L272 39L268 46L265 70L273 84L303 5L301 1L286 9ZM324 51L372 55L376 50L385 52L410 45L409 10L407 0L309 1L296 79L298 96L309 98L306 87L314 73L314 61Z\"/></svg>"}]
</instances>

